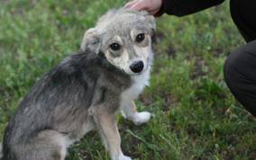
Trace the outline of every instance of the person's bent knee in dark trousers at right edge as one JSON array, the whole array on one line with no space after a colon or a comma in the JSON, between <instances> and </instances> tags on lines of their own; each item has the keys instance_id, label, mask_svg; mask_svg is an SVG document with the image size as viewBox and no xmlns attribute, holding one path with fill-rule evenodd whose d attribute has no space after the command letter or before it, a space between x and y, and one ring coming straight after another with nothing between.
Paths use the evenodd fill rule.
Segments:
<instances>
[{"instance_id":1,"label":"person's bent knee in dark trousers at right edge","mask_svg":"<svg viewBox=\"0 0 256 160\"><path fill-rule=\"evenodd\" d=\"M230 54L224 79L235 98L256 117L256 40Z\"/></svg>"}]
</instances>

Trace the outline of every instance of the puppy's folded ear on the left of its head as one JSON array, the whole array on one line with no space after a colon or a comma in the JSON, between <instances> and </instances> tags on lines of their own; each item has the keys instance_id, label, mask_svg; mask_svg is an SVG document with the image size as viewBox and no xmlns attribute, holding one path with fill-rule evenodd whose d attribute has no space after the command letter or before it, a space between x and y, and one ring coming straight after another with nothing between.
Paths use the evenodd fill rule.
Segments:
<instances>
[{"instance_id":1,"label":"puppy's folded ear on the left of its head","mask_svg":"<svg viewBox=\"0 0 256 160\"><path fill-rule=\"evenodd\" d=\"M100 35L95 28L91 28L86 31L83 41L81 43L81 49L86 51L87 49L99 53L100 49Z\"/></svg>"}]
</instances>

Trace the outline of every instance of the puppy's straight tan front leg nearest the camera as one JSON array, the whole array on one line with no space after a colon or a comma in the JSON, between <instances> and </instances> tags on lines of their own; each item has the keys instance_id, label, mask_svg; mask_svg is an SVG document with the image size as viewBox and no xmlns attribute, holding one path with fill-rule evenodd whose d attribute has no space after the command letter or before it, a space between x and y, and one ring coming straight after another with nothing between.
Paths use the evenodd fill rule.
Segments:
<instances>
[{"instance_id":1,"label":"puppy's straight tan front leg nearest the camera","mask_svg":"<svg viewBox=\"0 0 256 160\"><path fill-rule=\"evenodd\" d=\"M132 160L129 156L124 156L121 150L121 138L117 129L114 113L98 112L94 114L96 127L99 129L101 137L109 151L112 160Z\"/></svg>"}]
</instances>

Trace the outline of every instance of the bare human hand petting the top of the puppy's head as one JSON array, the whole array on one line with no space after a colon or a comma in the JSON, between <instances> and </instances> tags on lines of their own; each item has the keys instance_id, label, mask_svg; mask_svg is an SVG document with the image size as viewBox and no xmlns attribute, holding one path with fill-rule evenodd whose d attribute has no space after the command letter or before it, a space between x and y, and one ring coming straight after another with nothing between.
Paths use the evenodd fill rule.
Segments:
<instances>
[{"instance_id":1,"label":"bare human hand petting the top of the puppy's head","mask_svg":"<svg viewBox=\"0 0 256 160\"><path fill-rule=\"evenodd\" d=\"M155 15L160 11L162 0L133 0L124 5L124 8L134 11L145 10L151 15Z\"/></svg>"}]
</instances>

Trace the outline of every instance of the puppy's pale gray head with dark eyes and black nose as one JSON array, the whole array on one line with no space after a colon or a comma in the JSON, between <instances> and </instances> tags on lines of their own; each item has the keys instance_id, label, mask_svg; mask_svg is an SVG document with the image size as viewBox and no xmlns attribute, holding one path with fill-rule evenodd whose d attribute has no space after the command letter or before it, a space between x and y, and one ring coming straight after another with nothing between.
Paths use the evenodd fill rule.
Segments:
<instances>
[{"instance_id":1,"label":"puppy's pale gray head with dark eyes and black nose","mask_svg":"<svg viewBox=\"0 0 256 160\"><path fill-rule=\"evenodd\" d=\"M86 31L81 49L103 53L114 67L138 75L151 67L155 28L154 17L146 12L112 10L99 19L95 28Z\"/></svg>"}]
</instances>

